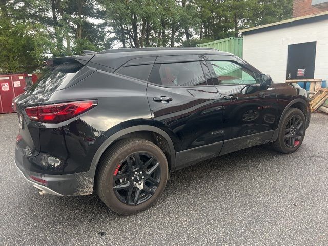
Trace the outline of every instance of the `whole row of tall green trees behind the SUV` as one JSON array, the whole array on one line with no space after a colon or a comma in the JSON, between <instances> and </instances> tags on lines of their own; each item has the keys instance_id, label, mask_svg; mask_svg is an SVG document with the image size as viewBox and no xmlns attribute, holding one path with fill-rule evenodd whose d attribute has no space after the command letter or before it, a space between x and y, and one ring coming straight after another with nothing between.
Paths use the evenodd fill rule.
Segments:
<instances>
[{"instance_id":1,"label":"whole row of tall green trees behind the SUV","mask_svg":"<svg viewBox=\"0 0 328 246\"><path fill-rule=\"evenodd\" d=\"M291 13L292 0L0 0L0 72L83 50L196 46Z\"/></svg>"}]
</instances>

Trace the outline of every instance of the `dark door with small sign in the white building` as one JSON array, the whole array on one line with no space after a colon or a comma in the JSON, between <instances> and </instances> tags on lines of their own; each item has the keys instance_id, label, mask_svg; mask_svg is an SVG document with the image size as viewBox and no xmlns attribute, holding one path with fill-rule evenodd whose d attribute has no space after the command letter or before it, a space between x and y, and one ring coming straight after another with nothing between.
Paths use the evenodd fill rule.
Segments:
<instances>
[{"instance_id":1,"label":"dark door with small sign in the white building","mask_svg":"<svg viewBox=\"0 0 328 246\"><path fill-rule=\"evenodd\" d=\"M286 79L314 79L317 42L288 46Z\"/></svg>"}]
</instances>

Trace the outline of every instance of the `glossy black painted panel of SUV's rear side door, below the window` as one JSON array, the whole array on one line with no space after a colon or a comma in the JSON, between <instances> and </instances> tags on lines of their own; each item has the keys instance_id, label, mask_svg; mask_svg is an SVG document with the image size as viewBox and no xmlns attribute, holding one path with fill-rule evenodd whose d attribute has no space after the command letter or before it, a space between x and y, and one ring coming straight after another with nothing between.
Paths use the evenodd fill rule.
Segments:
<instances>
[{"instance_id":1,"label":"glossy black painted panel of SUV's rear side door, below the window","mask_svg":"<svg viewBox=\"0 0 328 246\"><path fill-rule=\"evenodd\" d=\"M159 95L172 101L154 102ZM223 141L222 100L214 86L172 89L149 84L147 96L155 126L169 130L177 152Z\"/></svg>"}]
</instances>

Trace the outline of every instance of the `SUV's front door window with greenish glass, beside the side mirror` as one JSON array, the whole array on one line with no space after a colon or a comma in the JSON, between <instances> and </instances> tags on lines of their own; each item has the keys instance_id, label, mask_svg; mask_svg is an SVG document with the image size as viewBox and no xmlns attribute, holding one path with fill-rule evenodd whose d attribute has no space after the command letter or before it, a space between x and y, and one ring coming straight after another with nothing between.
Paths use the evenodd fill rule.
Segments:
<instances>
[{"instance_id":1,"label":"SUV's front door window with greenish glass, beside the side mirror","mask_svg":"<svg viewBox=\"0 0 328 246\"><path fill-rule=\"evenodd\" d=\"M219 84L256 84L258 74L232 61L211 61Z\"/></svg>"}]
</instances>

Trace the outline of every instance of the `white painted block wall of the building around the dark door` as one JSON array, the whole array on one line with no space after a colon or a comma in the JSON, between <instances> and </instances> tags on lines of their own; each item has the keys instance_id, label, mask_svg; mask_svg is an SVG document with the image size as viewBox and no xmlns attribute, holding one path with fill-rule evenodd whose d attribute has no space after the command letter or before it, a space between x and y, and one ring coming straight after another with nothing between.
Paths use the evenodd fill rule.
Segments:
<instances>
[{"instance_id":1,"label":"white painted block wall of the building around the dark door","mask_svg":"<svg viewBox=\"0 0 328 246\"><path fill-rule=\"evenodd\" d=\"M286 79L288 45L317 41L314 78L328 80L328 20L243 36L243 59L269 74Z\"/></svg>"}]
</instances>

